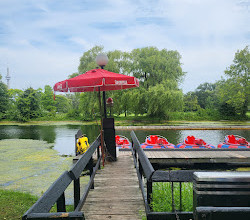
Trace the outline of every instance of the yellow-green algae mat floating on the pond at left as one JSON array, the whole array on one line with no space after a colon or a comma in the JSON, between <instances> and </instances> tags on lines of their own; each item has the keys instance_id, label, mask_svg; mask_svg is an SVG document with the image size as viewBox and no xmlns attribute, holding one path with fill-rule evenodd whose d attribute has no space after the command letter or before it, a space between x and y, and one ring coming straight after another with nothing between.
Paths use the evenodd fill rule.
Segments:
<instances>
[{"instance_id":1,"label":"yellow-green algae mat floating on the pond at left","mask_svg":"<svg viewBox=\"0 0 250 220\"><path fill-rule=\"evenodd\" d=\"M38 140L0 140L0 188L28 192L40 197L72 166L72 157L61 157L51 147L53 144ZM72 198L68 203L71 200Z\"/></svg>"}]
</instances>

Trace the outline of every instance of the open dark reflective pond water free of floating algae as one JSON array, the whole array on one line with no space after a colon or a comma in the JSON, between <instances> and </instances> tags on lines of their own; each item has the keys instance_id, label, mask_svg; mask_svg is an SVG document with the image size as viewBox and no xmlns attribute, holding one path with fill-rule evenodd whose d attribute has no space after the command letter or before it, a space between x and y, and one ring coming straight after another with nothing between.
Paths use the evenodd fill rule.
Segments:
<instances>
[{"instance_id":1,"label":"open dark reflective pond water free of floating algae","mask_svg":"<svg viewBox=\"0 0 250 220\"><path fill-rule=\"evenodd\" d=\"M42 140L54 145L54 150L60 155L74 155L75 134L81 129L92 143L100 132L98 125L1 125L0 140L3 139L32 139ZM131 130L116 130L116 134L130 139ZM249 130L136 130L139 141L144 142L150 134L166 137L169 142L178 144L188 135L202 138L205 142L217 146L223 142L225 135L235 134L250 140Z\"/></svg>"}]
</instances>

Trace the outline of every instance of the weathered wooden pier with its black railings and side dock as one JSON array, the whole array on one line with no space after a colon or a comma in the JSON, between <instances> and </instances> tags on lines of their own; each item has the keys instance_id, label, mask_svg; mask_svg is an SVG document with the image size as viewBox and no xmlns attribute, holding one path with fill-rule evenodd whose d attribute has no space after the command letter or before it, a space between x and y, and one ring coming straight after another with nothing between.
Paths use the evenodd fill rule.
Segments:
<instances>
[{"instance_id":1,"label":"weathered wooden pier with its black railings and side dock","mask_svg":"<svg viewBox=\"0 0 250 220\"><path fill-rule=\"evenodd\" d=\"M229 170L250 167L249 149L142 149L138 138L131 132L132 151L119 151L116 162L101 162L100 136L91 144L85 154L75 158L75 164L65 171L22 216L23 220L67 218L67 219L192 219L193 212L175 210L172 200L172 212L154 212L150 209L154 182L192 182L193 174L198 170ZM96 153L97 152L97 153ZM133 157L132 157L133 152ZM96 158L96 159L95 159ZM95 166L93 166L93 160ZM171 167L184 168L172 170ZM170 168L170 169L169 169ZM84 190L81 190L80 177L89 170L90 178ZM238 172L240 173L240 172ZM138 174L138 176L137 176ZM246 176L247 178L247 176ZM94 189L92 189L94 183ZM65 191L74 184L74 211L66 212ZM92 189L92 190L91 190ZM173 194L173 187L172 192ZM181 195L180 195L181 198ZM180 207L182 207L180 199ZM57 212L50 212L56 204ZM237 203L235 203L237 205ZM211 206L211 207L210 207ZM230 208L216 207L211 204L206 210L197 209L201 216L206 213L219 215L231 213ZM219 209L218 209L219 208ZM233 206L237 213L249 219L250 208ZM248 215L245 215L248 214ZM210 215L208 215L210 218ZM230 215L229 215L230 216ZM203 217L202 217L203 219Z\"/></svg>"}]
</instances>

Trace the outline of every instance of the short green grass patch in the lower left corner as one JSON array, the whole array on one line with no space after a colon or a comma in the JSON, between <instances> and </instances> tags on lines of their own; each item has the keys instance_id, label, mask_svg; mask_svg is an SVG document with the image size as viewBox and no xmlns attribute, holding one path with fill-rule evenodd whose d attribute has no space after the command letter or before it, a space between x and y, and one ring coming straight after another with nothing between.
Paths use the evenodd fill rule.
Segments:
<instances>
[{"instance_id":1,"label":"short green grass patch in the lower left corner","mask_svg":"<svg viewBox=\"0 0 250 220\"><path fill-rule=\"evenodd\" d=\"M0 189L0 219L21 219L23 214L37 201L38 197L29 193ZM67 212L74 211L73 205L66 206ZM57 212L54 205L50 212Z\"/></svg>"}]
</instances>

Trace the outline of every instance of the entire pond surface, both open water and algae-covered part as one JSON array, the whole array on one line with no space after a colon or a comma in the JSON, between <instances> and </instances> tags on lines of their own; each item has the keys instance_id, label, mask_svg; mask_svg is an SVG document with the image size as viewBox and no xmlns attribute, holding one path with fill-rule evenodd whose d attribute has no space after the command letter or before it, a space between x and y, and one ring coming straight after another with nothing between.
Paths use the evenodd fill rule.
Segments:
<instances>
[{"instance_id":1,"label":"entire pond surface, both open water and algae-covered part","mask_svg":"<svg viewBox=\"0 0 250 220\"><path fill-rule=\"evenodd\" d=\"M29 192L41 196L49 186L72 166L75 134L81 129L92 143L99 134L98 125L1 125L0 126L0 188ZM116 134L130 139L131 130L116 129ZM136 130L142 143L150 134L166 137L178 144L194 135L217 146L227 134L250 140L249 130ZM88 177L81 180L87 183ZM73 186L66 191L66 203L73 204Z\"/></svg>"}]
</instances>

